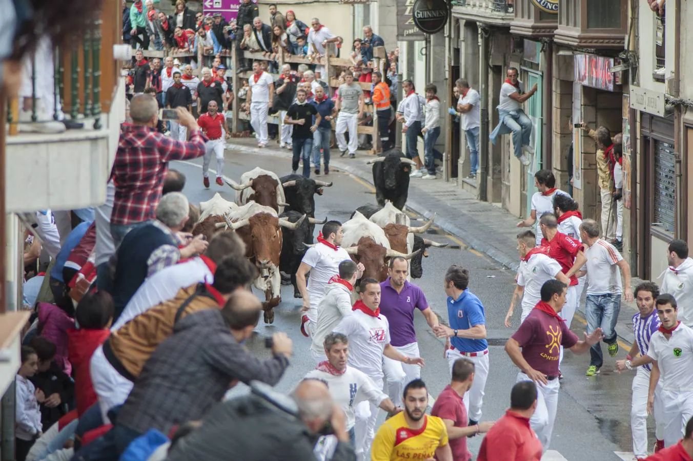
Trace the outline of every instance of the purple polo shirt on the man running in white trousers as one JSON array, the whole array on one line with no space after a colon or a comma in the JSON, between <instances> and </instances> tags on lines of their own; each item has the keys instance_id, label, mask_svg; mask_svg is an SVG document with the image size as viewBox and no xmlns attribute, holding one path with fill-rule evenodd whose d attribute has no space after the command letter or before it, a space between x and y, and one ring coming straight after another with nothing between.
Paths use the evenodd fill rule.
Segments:
<instances>
[{"instance_id":1,"label":"purple polo shirt on the man running in white trousers","mask_svg":"<svg viewBox=\"0 0 693 461\"><path fill-rule=\"evenodd\" d=\"M380 313L389 322L390 344L403 346L416 343L414 309L428 309L426 296L419 287L405 281L402 291L397 293L392 288L389 277L380 283Z\"/></svg>"}]
</instances>

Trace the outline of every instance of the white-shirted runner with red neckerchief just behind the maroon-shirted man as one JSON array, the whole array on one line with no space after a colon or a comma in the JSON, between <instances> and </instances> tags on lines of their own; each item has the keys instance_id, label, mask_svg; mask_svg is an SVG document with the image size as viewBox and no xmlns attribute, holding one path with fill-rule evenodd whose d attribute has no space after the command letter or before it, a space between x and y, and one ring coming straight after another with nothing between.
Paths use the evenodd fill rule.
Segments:
<instances>
[{"instance_id":1,"label":"white-shirted runner with red neckerchief just behind the maroon-shirted man","mask_svg":"<svg viewBox=\"0 0 693 461\"><path fill-rule=\"evenodd\" d=\"M505 326L510 327L510 318L515 306L522 297L522 315L520 323L525 321L529 312L541 301L541 287L544 282L555 278L570 285L570 280L561 270L561 264L548 256L548 246L534 246L536 236L532 230L518 234L518 253L520 253L520 269L518 269L517 286L510 301L510 308L505 316Z\"/></svg>"}]
</instances>

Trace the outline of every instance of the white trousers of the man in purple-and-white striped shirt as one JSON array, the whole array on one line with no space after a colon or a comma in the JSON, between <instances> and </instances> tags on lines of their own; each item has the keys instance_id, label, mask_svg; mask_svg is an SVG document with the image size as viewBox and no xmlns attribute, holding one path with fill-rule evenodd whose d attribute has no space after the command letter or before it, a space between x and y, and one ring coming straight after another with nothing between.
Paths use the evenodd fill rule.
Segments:
<instances>
[{"instance_id":1,"label":"white trousers of the man in purple-and-white striped shirt","mask_svg":"<svg viewBox=\"0 0 693 461\"><path fill-rule=\"evenodd\" d=\"M633 453L635 458L647 458L647 394L649 392L650 372L638 367L633 378L633 398L631 400L631 433L633 433ZM654 393L655 437L664 437L662 417L662 388L657 386Z\"/></svg>"}]
</instances>

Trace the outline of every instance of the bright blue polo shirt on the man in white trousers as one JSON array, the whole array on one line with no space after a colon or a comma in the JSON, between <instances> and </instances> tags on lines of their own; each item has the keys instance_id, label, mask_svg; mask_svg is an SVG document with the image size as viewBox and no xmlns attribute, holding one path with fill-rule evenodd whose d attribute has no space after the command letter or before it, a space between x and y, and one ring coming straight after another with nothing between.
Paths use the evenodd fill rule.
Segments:
<instances>
[{"instance_id":1,"label":"bright blue polo shirt on the man in white trousers","mask_svg":"<svg viewBox=\"0 0 693 461\"><path fill-rule=\"evenodd\" d=\"M452 329L470 329L486 325L484 305L474 293L466 289L459 298L448 297L448 322ZM489 348L485 339L450 338L450 343L460 352L480 352Z\"/></svg>"}]
</instances>

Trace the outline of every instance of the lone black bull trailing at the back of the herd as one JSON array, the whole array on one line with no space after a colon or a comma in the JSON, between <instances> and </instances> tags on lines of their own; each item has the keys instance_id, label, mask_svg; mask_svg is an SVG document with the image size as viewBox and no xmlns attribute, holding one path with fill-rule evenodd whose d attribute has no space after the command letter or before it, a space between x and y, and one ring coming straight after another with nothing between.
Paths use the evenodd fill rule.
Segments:
<instances>
[{"instance_id":1,"label":"lone black bull trailing at the back of the herd","mask_svg":"<svg viewBox=\"0 0 693 461\"><path fill-rule=\"evenodd\" d=\"M404 208L409 194L410 170L416 163L407 159L401 150L390 150L385 156L376 157L368 163L373 163L373 183L376 186L378 205L385 206L385 201L389 200L395 208Z\"/></svg>"}]
</instances>

